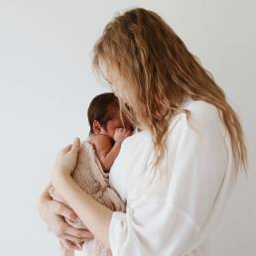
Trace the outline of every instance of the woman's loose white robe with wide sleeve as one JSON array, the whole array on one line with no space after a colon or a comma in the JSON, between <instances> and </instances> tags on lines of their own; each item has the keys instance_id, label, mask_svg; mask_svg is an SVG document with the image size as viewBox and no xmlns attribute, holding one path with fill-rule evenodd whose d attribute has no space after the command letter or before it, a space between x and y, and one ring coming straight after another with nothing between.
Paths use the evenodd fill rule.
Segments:
<instances>
[{"instance_id":1,"label":"woman's loose white robe with wide sleeve","mask_svg":"<svg viewBox=\"0 0 256 256\"><path fill-rule=\"evenodd\" d=\"M122 144L109 182L127 211L111 218L113 256L211 256L210 238L235 183L234 159L217 109L191 99L184 107L192 127L184 113L170 122L158 175L150 172L155 152L148 131Z\"/></svg>"}]
</instances>

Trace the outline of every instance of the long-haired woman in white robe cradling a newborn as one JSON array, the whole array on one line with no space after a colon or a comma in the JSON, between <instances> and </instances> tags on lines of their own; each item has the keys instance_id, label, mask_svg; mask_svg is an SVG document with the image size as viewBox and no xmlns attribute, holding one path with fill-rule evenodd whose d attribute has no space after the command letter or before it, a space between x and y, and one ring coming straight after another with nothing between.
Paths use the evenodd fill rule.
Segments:
<instances>
[{"instance_id":1,"label":"long-haired woman in white robe cradling a newborn","mask_svg":"<svg viewBox=\"0 0 256 256\"><path fill-rule=\"evenodd\" d=\"M242 128L223 90L169 25L144 9L105 27L93 64L141 130L110 171L127 210L112 212L72 182L75 139L59 153L51 182L91 233L67 226L61 216L74 212L47 192L42 218L69 248L93 234L114 256L211 255L210 237L246 165Z\"/></svg>"}]
</instances>

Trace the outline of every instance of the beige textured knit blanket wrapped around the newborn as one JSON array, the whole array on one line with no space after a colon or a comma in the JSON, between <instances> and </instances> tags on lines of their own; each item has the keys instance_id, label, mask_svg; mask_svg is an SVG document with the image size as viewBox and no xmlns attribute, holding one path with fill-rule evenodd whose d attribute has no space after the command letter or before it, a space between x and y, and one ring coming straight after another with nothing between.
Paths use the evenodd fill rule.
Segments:
<instances>
[{"instance_id":1,"label":"beige textured knit blanket wrapped around the newborn","mask_svg":"<svg viewBox=\"0 0 256 256\"><path fill-rule=\"evenodd\" d=\"M72 178L81 190L89 194L101 204L104 204L111 210L125 210L125 204L120 199L117 192L109 187L108 174L104 173L101 164L95 154L95 150L88 141L84 141L81 144L81 150L78 156L76 167L72 173ZM54 199L67 205L62 195L56 192L53 187L49 192ZM86 229L81 221L73 222L68 218L65 218L65 220L75 228ZM67 250L64 247L62 249L63 256L73 256L73 251ZM83 251L84 250L88 256L112 255L110 249L108 249L95 238L84 244Z\"/></svg>"}]
</instances>

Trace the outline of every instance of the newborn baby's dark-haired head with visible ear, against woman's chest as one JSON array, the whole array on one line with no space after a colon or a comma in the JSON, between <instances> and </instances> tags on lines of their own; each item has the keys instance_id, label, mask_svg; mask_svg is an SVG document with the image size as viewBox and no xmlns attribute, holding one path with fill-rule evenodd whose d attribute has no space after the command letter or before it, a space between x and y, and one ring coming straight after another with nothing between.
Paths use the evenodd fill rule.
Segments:
<instances>
[{"instance_id":1,"label":"newborn baby's dark-haired head with visible ear, against woman's chest","mask_svg":"<svg viewBox=\"0 0 256 256\"><path fill-rule=\"evenodd\" d=\"M102 93L95 96L88 107L89 134L105 134L113 138L117 128L133 130L132 124L120 115L118 98L114 93Z\"/></svg>"}]
</instances>

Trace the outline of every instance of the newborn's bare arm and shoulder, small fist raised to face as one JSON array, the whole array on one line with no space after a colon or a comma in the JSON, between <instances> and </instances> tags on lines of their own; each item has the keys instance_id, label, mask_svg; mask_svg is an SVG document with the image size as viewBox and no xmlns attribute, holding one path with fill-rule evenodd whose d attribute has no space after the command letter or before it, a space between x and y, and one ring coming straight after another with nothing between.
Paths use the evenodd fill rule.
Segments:
<instances>
[{"instance_id":1,"label":"newborn's bare arm and shoulder, small fist raised to face","mask_svg":"<svg viewBox=\"0 0 256 256\"><path fill-rule=\"evenodd\" d=\"M92 139L96 155L101 163L104 172L109 172L113 165L125 138L130 136L131 131L127 131L123 128L116 129L114 134L114 145L112 140L107 135L97 135Z\"/></svg>"}]
</instances>

